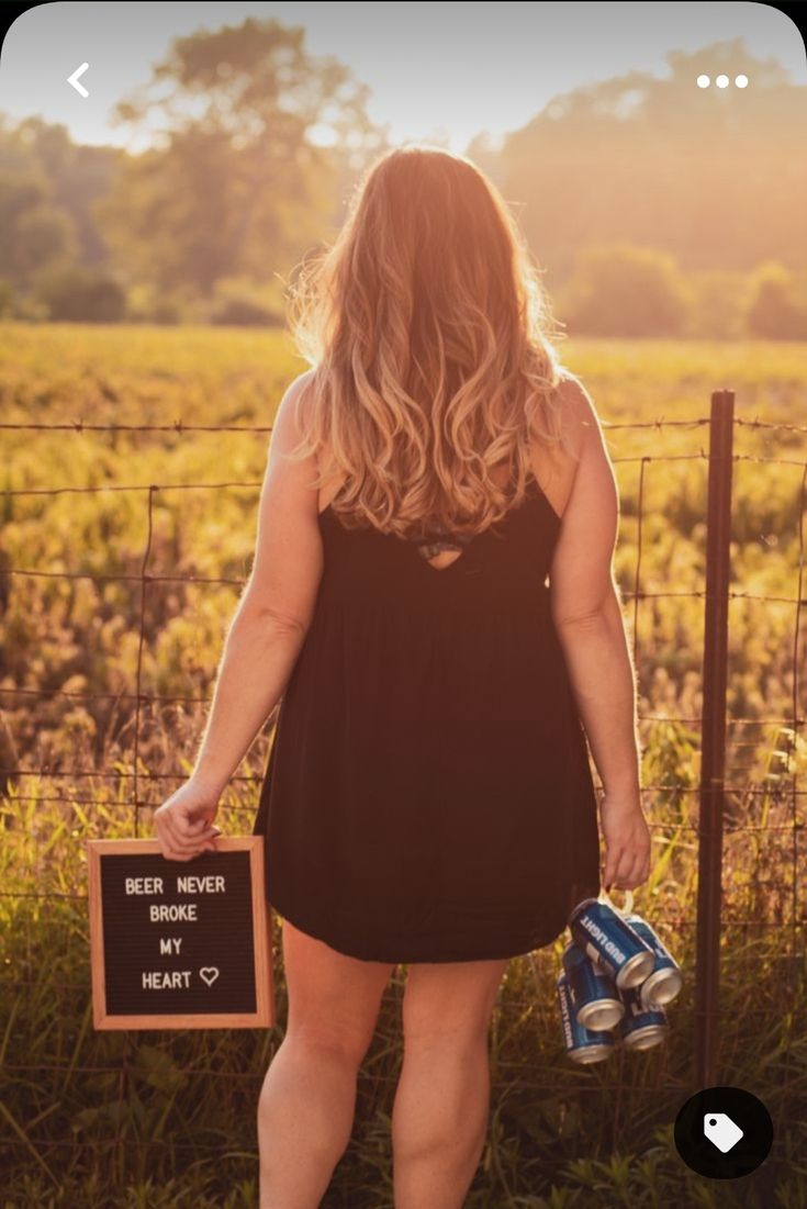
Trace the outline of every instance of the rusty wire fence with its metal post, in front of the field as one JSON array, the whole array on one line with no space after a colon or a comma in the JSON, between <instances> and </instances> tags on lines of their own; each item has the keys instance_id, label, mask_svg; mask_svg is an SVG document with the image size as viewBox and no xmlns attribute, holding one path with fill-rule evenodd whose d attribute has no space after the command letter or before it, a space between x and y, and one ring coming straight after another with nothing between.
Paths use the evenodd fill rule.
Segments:
<instances>
[{"instance_id":1,"label":"rusty wire fence with its metal post, in front of the field","mask_svg":"<svg viewBox=\"0 0 807 1209\"><path fill-rule=\"evenodd\" d=\"M691 930L697 933L697 967L695 985L695 1036L692 1039L693 1054L693 1086L709 1086L714 1082L719 1070L719 1041L720 1041L720 1014L719 1014L719 971L720 971L720 936L726 930L767 930L777 929L782 932L783 944L778 953L778 959L783 966L783 977L790 974L795 985L800 965L803 965L803 892L802 881L805 862L800 850L801 837L803 834L803 809L800 799L807 789L800 788L797 783L799 765L799 733L805 723L805 708L801 700L802 686L800 681L800 625L801 608L807 603L805 600L805 532L803 514L807 490L807 461L796 457L760 457L754 453L737 453L733 451L733 436L737 430L765 432L774 438L797 441L807 434L807 427L789 423L773 423L760 418L741 418L733 415L733 395L730 392L715 392L712 397L712 410L708 416L699 416L692 420L666 420L657 418L639 423L615 423L604 424L605 435L619 430L646 430L646 434L663 434L667 429L685 429L690 432L702 430L708 435L707 447L701 446L697 452L664 453L657 451L629 457L612 457L616 465L638 465L638 491L635 509L627 514L635 523L635 563L632 572L632 586L627 582L622 585L621 595L626 603L626 612L629 608L631 631L633 640L633 659L639 678L649 682L649 672L652 669L651 652L645 650L639 640L643 619L641 606L655 608L652 602L664 598L693 598L703 602L704 621L704 647L703 663L701 670L701 692L703 708L691 713L668 713L639 711L639 724L643 731L651 734L654 727L684 727L699 736L697 747L701 752L701 780L699 783L686 783L685 780L674 777L669 781L645 781L643 782L643 798L648 804L648 815L651 831L657 837L657 843L664 844L666 837L673 834L689 835L693 845L697 844L697 856L699 866L698 903L697 914L681 914L675 909L675 904L668 906L661 922L670 930ZM191 433L219 434L223 432L237 433L271 433L271 426L195 426L176 421L172 424L88 424L85 421L69 423L2 423L4 430L29 430L36 433L69 432L77 436L88 433L176 433L180 435ZM709 474L709 492L706 515L701 517L703 522L703 543L706 556L706 578L702 588L686 590L648 590L644 588L644 560L648 551L645 538L646 525L646 490L651 469L666 468L677 462L702 461ZM742 590L731 582L730 563L731 555L737 543L732 538L732 470L741 463L765 465L768 469L795 468L801 470L800 485L795 493L796 522L796 590L794 595L773 595L766 591ZM230 585L239 589L245 584L245 577L223 575L188 575L170 574L164 568L156 568L153 557L155 534L155 507L159 496L167 492L221 492L223 490L238 490L257 492L260 481L243 481L222 479L213 482L149 482L149 484L97 484L86 486L31 486L13 487L4 492L5 505L8 509L12 502L22 497L50 497L56 498L65 493L80 496L101 496L109 492L126 493L132 497L143 497L143 510L145 521L145 542L139 557L139 567L134 571L91 569L70 571L64 567L39 568L31 566L8 566L0 562L0 602L2 608L7 608L14 585L18 580L27 578L45 578L53 580L80 582L89 580L100 585L104 583L127 583L133 585L138 596L139 624L137 632L137 658L134 665L133 683L120 692L92 692L83 689L65 689L57 684L39 687L16 686L0 682L0 707L2 711L25 711L34 723L37 716L39 701L80 702L88 710L115 708L128 710L126 724L130 734L130 759L116 758L112 767L50 767L48 763L36 764L30 757L25 759L16 758L13 750L13 737L0 748L0 787L7 791L4 808L6 827L13 826L10 808L17 809L16 804L24 802L54 803L64 806L92 806L98 800L99 787L111 786L115 792L116 806L130 811L132 835L139 837L143 831L143 810L151 810L159 805L178 783L185 780L181 771L150 771L144 764L144 723L153 719L157 707L169 705L172 707L203 707L209 702L208 695L188 694L161 694L151 690L146 683L144 672L144 650L149 640L147 617L151 594L159 585L180 583L198 584L205 588L216 585ZM626 510L623 508L623 516ZM40 514L40 521L45 522L46 514ZM782 537L782 536L780 536ZM2 551L0 550L0 559ZM788 665L791 673L790 695L788 712L764 712L753 711L749 713L727 715L727 670L731 664L728 638L732 632L731 606L733 602L760 602L766 606L786 604L793 608L793 646L791 656ZM629 603L628 603L629 602ZM741 636L742 637L742 636ZM650 692L650 690L649 690ZM779 702L773 702L779 705ZM17 716L13 713L12 716ZM106 715L105 715L106 717ZM272 723L277 717L277 707L269 717ZM1 715L0 715L1 718ZM757 752L761 740L767 730L772 728L776 736L774 750L780 758L780 769L771 773L771 777L765 783L749 783L743 779L743 751L751 756ZM745 737L748 735L748 737ZM733 777L726 775L726 769ZM244 786L250 792L251 786L260 785L261 771L237 774L232 777L232 785ZM597 776L594 777L598 783ZM776 794L779 810L776 815L765 810L760 812L761 799L767 803L771 798L771 785L776 782ZM47 786L50 792L43 792ZM83 791L81 787L86 787ZM602 789L602 786L598 786ZM696 796L693 798L693 796ZM673 820L658 820L654 817L652 803L657 798L667 802L686 802L693 799L697 803L697 820L686 817L686 811L680 810ZM786 798L789 808L786 812L782 810L782 803ZM109 799L105 799L109 800ZM227 810L236 815L243 812L251 821L252 805L233 804ZM753 820L753 821L751 821ZM150 834L150 832L149 832ZM778 861L771 878L765 878L765 861L761 860L760 873L755 885L756 889L766 889L766 902L771 904L767 914L760 912L743 918L742 914L727 915L726 895L722 886L722 854L727 841L735 838L745 838L749 843L760 845L765 839L772 839L776 844ZM759 849L762 852L762 849ZM785 858L786 854L786 858ZM786 875L785 870L786 869ZM57 899L86 899L87 895L72 889L66 890L0 890L0 897L14 899L41 898L45 901ZM784 943L784 935L788 941ZM75 939L75 937L74 937ZM17 979L6 983L21 996L30 988L39 985L36 979ZM400 984L393 984L394 996L400 995ZM59 996L77 996L86 1000L89 994L88 984L83 982L70 983L59 982L56 988ZM527 1001L515 1003L515 1007L528 1006ZM749 1018L754 1013L754 1007L749 1007ZM760 1012L767 1011L760 1006ZM499 1070L507 1069L507 1060L503 1058ZM13 1072L17 1077L39 1078L50 1072L54 1078L66 1081L77 1075L115 1075L120 1076L121 1094L124 1093L126 1080L130 1074L130 1068L126 1060L122 1064L81 1064L74 1054L69 1062L54 1062L53 1064L4 1064L5 1070ZM234 1071L222 1069L186 1069L186 1074L199 1078L249 1081L254 1083L262 1078L263 1072ZM662 1074L656 1075L656 1086ZM539 1087L540 1081L532 1081L530 1087ZM546 1084L550 1086L548 1083ZM615 1083L603 1082L603 1087L623 1088L617 1080ZM652 1086L652 1084L651 1084ZM57 1151L63 1147L80 1149L82 1146L98 1147L101 1139L88 1139L82 1141L71 1139L47 1139L47 1147ZM116 1133L109 1139L110 1145L120 1145L121 1136ZM141 1139L140 1145L150 1146L151 1141ZM31 1149L36 1145L33 1134L16 1139L16 1145ZM155 1139L155 1146L163 1146L164 1143ZM173 1144L176 1150L182 1150L182 1144ZM199 1149L198 1143L188 1143L188 1150Z\"/></svg>"}]
</instances>

